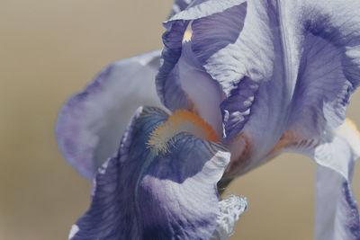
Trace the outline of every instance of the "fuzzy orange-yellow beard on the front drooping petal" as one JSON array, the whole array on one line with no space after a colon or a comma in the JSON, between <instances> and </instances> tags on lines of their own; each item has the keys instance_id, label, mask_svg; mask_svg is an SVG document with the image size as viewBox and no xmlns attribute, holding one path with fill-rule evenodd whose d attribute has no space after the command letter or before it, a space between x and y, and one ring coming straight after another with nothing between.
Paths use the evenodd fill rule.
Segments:
<instances>
[{"instance_id":1,"label":"fuzzy orange-yellow beard on the front drooping petal","mask_svg":"<svg viewBox=\"0 0 360 240\"><path fill-rule=\"evenodd\" d=\"M147 145L157 153L167 153L169 144L174 144L173 137L180 132L188 132L197 138L213 142L219 141L211 125L199 115L187 110L176 110L166 122L162 122L150 133Z\"/></svg>"}]
</instances>

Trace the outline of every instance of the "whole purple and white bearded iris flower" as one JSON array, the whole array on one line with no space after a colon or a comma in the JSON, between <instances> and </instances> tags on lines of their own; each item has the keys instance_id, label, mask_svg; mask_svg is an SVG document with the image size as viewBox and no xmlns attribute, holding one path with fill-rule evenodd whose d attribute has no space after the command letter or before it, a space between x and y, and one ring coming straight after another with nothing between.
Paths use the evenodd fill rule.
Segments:
<instances>
[{"instance_id":1,"label":"whole purple and white bearded iris flower","mask_svg":"<svg viewBox=\"0 0 360 240\"><path fill-rule=\"evenodd\" d=\"M94 179L70 238L225 239L247 204L220 200L217 184L296 151L317 164L314 238L360 239L360 137L345 119L360 82L358 9L175 1L161 52L112 63L59 113L63 155Z\"/></svg>"}]
</instances>

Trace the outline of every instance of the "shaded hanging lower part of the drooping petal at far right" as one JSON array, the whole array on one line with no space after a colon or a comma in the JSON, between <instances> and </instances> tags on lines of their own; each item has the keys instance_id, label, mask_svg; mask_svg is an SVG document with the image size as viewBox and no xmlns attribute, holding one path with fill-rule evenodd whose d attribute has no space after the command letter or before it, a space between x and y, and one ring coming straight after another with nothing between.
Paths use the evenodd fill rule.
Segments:
<instances>
[{"instance_id":1,"label":"shaded hanging lower part of the drooping petal at far right","mask_svg":"<svg viewBox=\"0 0 360 240\"><path fill-rule=\"evenodd\" d=\"M318 165L316 173L314 239L359 239L359 213L350 183L328 167Z\"/></svg>"}]
</instances>

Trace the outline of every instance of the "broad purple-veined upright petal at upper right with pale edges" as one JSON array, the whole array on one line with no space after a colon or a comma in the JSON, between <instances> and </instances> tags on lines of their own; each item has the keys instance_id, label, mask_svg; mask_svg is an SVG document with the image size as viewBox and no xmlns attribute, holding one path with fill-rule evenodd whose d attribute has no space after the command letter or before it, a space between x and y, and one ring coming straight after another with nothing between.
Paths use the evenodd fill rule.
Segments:
<instances>
[{"instance_id":1,"label":"broad purple-veined upright petal at upper right with pale edges","mask_svg":"<svg viewBox=\"0 0 360 240\"><path fill-rule=\"evenodd\" d=\"M302 128L307 138L343 122L360 84L359 7L358 1L304 1L298 7L303 52L289 128Z\"/></svg>"}]
</instances>

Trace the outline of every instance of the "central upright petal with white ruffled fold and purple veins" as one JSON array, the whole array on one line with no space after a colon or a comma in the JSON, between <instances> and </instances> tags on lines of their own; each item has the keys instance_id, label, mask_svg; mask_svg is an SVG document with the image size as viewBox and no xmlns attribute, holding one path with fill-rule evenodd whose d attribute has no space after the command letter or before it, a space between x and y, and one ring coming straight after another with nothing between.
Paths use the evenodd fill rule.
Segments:
<instances>
[{"instance_id":1,"label":"central upright petal with white ruffled fold and purple veins","mask_svg":"<svg viewBox=\"0 0 360 240\"><path fill-rule=\"evenodd\" d=\"M201 40L194 44L202 67L225 94L220 102L223 138L232 152L227 178L260 164L281 138L291 111L300 62L293 58L299 56L298 49L283 44L287 19L282 19L276 3L247 1L236 9L224 17L236 22L237 31L235 27L210 30L206 22L193 28L193 36L197 31L204 35L209 32L207 39L216 47L211 51ZM222 18L212 21L232 26ZM221 34L222 31L228 34Z\"/></svg>"}]
</instances>

